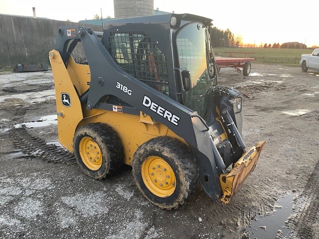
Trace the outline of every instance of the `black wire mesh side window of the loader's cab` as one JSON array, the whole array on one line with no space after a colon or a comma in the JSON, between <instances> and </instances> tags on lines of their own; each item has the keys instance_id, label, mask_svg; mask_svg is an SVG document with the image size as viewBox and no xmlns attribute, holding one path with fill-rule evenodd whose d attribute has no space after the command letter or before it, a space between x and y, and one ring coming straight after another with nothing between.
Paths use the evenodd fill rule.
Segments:
<instances>
[{"instance_id":1,"label":"black wire mesh side window of the loader's cab","mask_svg":"<svg viewBox=\"0 0 319 239\"><path fill-rule=\"evenodd\" d=\"M119 66L169 96L166 56L144 32L111 32L110 53Z\"/></svg>"}]
</instances>

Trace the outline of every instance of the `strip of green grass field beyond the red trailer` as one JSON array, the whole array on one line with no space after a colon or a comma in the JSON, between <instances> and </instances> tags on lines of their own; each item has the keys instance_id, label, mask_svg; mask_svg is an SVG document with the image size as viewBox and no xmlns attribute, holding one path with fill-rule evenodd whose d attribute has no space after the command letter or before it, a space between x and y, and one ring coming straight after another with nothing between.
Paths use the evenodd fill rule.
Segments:
<instances>
[{"instance_id":1,"label":"strip of green grass field beyond the red trailer","mask_svg":"<svg viewBox=\"0 0 319 239\"><path fill-rule=\"evenodd\" d=\"M232 54L232 57L244 57L245 52L250 52L246 57L263 58L298 58L304 53L312 53L310 49L283 49L283 48L213 48L216 56L229 56L229 53L224 52L236 52Z\"/></svg>"}]
</instances>

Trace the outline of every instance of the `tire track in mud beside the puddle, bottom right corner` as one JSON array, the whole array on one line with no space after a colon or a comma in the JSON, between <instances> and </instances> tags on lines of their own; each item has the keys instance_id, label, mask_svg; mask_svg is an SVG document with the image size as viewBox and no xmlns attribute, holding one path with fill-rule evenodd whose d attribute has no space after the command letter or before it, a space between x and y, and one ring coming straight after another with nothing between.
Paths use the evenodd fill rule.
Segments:
<instances>
[{"instance_id":1,"label":"tire track in mud beside the puddle, bottom right corner","mask_svg":"<svg viewBox=\"0 0 319 239\"><path fill-rule=\"evenodd\" d=\"M299 239L316 237L313 225L319 213L319 161L310 175L304 191L293 202L292 215L286 222L286 227L294 231Z\"/></svg>"}]
</instances>

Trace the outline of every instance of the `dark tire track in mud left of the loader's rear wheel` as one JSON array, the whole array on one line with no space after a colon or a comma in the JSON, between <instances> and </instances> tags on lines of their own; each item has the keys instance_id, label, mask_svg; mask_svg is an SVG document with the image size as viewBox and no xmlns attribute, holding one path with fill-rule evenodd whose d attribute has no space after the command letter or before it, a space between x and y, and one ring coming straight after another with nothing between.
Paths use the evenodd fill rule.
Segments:
<instances>
[{"instance_id":1,"label":"dark tire track in mud left of the loader's rear wheel","mask_svg":"<svg viewBox=\"0 0 319 239\"><path fill-rule=\"evenodd\" d=\"M77 165L72 153L54 144L47 144L41 138L31 135L25 126L11 128L9 137L16 148L29 156L40 157L47 162Z\"/></svg>"}]
</instances>

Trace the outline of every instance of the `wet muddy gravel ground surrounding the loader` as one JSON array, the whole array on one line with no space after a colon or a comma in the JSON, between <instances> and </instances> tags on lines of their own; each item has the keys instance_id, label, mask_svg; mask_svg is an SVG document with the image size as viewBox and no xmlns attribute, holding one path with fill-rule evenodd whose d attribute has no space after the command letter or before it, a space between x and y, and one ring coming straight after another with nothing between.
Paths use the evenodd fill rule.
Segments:
<instances>
[{"instance_id":1,"label":"wet muddy gravel ground surrounding the loader","mask_svg":"<svg viewBox=\"0 0 319 239\"><path fill-rule=\"evenodd\" d=\"M244 141L265 149L229 205L199 191L166 211L130 167L96 181L59 146L51 72L0 75L0 238L318 239L319 73L253 63L219 85L244 95Z\"/></svg>"}]
</instances>

